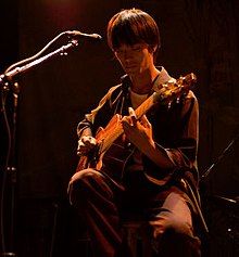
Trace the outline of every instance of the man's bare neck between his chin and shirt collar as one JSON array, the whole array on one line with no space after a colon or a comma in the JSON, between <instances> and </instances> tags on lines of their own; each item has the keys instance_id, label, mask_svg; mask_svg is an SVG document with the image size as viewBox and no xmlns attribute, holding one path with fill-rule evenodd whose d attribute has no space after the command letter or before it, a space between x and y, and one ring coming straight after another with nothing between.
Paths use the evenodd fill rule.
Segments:
<instances>
[{"instance_id":1,"label":"man's bare neck between his chin and shirt collar","mask_svg":"<svg viewBox=\"0 0 239 257\"><path fill-rule=\"evenodd\" d=\"M146 70L137 76L131 76L131 90L138 94L149 93L159 73L160 70L154 67L152 70Z\"/></svg>"}]
</instances>

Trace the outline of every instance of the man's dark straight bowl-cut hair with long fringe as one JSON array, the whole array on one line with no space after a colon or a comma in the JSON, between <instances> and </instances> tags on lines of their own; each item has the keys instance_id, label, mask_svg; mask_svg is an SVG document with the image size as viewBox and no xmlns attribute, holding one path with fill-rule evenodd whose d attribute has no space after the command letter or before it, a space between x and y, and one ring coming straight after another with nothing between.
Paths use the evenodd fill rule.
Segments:
<instances>
[{"instance_id":1,"label":"man's dark straight bowl-cut hair with long fringe","mask_svg":"<svg viewBox=\"0 0 239 257\"><path fill-rule=\"evenodd\" d=\"M160 48L160 31L155 21L139 9L128 9L116 13L108 24L108 44L112 50L121 44L147 43L152 49Z\"/></svg>"}]
</instances>

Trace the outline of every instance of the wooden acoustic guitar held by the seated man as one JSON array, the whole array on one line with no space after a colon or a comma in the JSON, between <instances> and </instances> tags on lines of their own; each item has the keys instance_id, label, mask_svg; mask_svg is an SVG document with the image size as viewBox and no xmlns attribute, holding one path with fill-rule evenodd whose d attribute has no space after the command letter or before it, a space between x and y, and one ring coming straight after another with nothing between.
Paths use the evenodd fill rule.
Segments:
<instances>
[{"instance_id":1,"label":"wooden acoustic guitar held by the seated man","mask_svg":"<svg viewBox=\"0 0 239 257\"><path fill-rule=\"evenodd\" d=\"M156 103L171 107L173 101L179 101L181 97L187 95L190 88L196 83L197 77L193 73L180 76L176 81L168 81L160 85L159 91L154 91L140 106L135 110L137 118L144 115ZM101 128L97 134L97 146L88 156L81 156L76 171L85 168L96 168L104 170L123 170L127 158L133 154L131 150L117 143L120 136L124 130L121 124L121 115L115 114L105 128ZM112 174L112 172L111 172ZM116 176L117 177L117 176ZM118 177L117 177L118 178Z\"/></svg>"}]
</instances>

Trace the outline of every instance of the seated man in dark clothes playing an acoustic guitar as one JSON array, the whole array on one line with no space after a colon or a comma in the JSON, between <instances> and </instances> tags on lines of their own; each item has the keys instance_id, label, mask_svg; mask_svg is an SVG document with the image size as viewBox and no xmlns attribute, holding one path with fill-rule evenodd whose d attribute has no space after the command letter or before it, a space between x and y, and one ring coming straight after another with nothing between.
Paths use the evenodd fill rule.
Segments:
<instances>
[{"instance_id":1,"label":"seated man in dark clothes playing an acoustic guitar","mask_svg":"<svg viewBox=\"0 0 239 257\"><path fill-rule=\"evenodd\" d=\"M109 22L108 43L125 76L78 124L77 154L88 159L70 181L70 201L88 226L96 257L130 256L121 224L131 214L147 220L156 256L200 256L197 98L189 90L171 106L159 100L138 117L138 106L176 81L154 64L156 23L141 10L123 10ZM112 117L123 133L98 156L103 141L96 138L106 130L99 128Z\"/></svg>"}]
</instances>

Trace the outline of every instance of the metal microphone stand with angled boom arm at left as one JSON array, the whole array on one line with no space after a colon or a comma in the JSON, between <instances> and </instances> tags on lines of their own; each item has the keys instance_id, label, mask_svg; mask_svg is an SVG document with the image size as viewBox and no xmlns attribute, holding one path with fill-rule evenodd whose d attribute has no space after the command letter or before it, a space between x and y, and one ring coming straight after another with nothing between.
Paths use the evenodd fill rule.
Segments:
<instances>
[{"instance_id":1,"label":"metal microphone stand with angled boom arm at left","mask_svg":"<svg viewBox=\"0 0 239 257\"><path fill-rule=\"evenodd\" d=\"M62 34L64 35L64 33ZM61 36L61 35L60 35ZM15 81L14 82L14 77L17 75L21 75L23 73L26 73L30 70L33 67L54 57L54 56L64 56L67 55L67 51L72 48L75 48L78 46L78 40L76 39L71 39L70 42L65 46L62 46L61 48L56 49L53 52L50 52L49 54L39 57L37 60L34 60L33 62L27 63L26 65L23 65L21 67L15 67L12 68L8 72L0 75L0 92L2 97L2 113L4 116L4 120L7 124L7 130L8 130L8 137L9 137L9 147L8 147L8 154L7 154L7 162L4 166L4 171L3 171L3 179L2 179L2 189L1 189L1 203L0 203L0 218L1 218L1 230L0 230L0 235L1 235L1 252L0 256L11 256L15 257L16 254L13 252L13 239L14 239L14 210L15 210L15 187L16 187L16 165L15 165L15 136L16 136L16 123L17 123L17 105L18 105L18 95L20 95L20 87L18 83ZM32 59L30 59L32 60ZM20 62L22 63L22 62ZM12 65L11 67L14 67L15 65ZM8 115L5 113L5 99L9 92L12 92L12 101L13 101L13 107L12 107L12 120L11 120L11 126L8 121ZM10 179L11 183L11 189L10 189L10 211L7 211L8 216L10 217L10 233L8 234L10 236L9 245L8 245L8 250L7 250L7 244L5 244L5 222L4 222L4 194L5 194L5 183L8 181L8 178Z\"/></svg>"}]
</instances>

